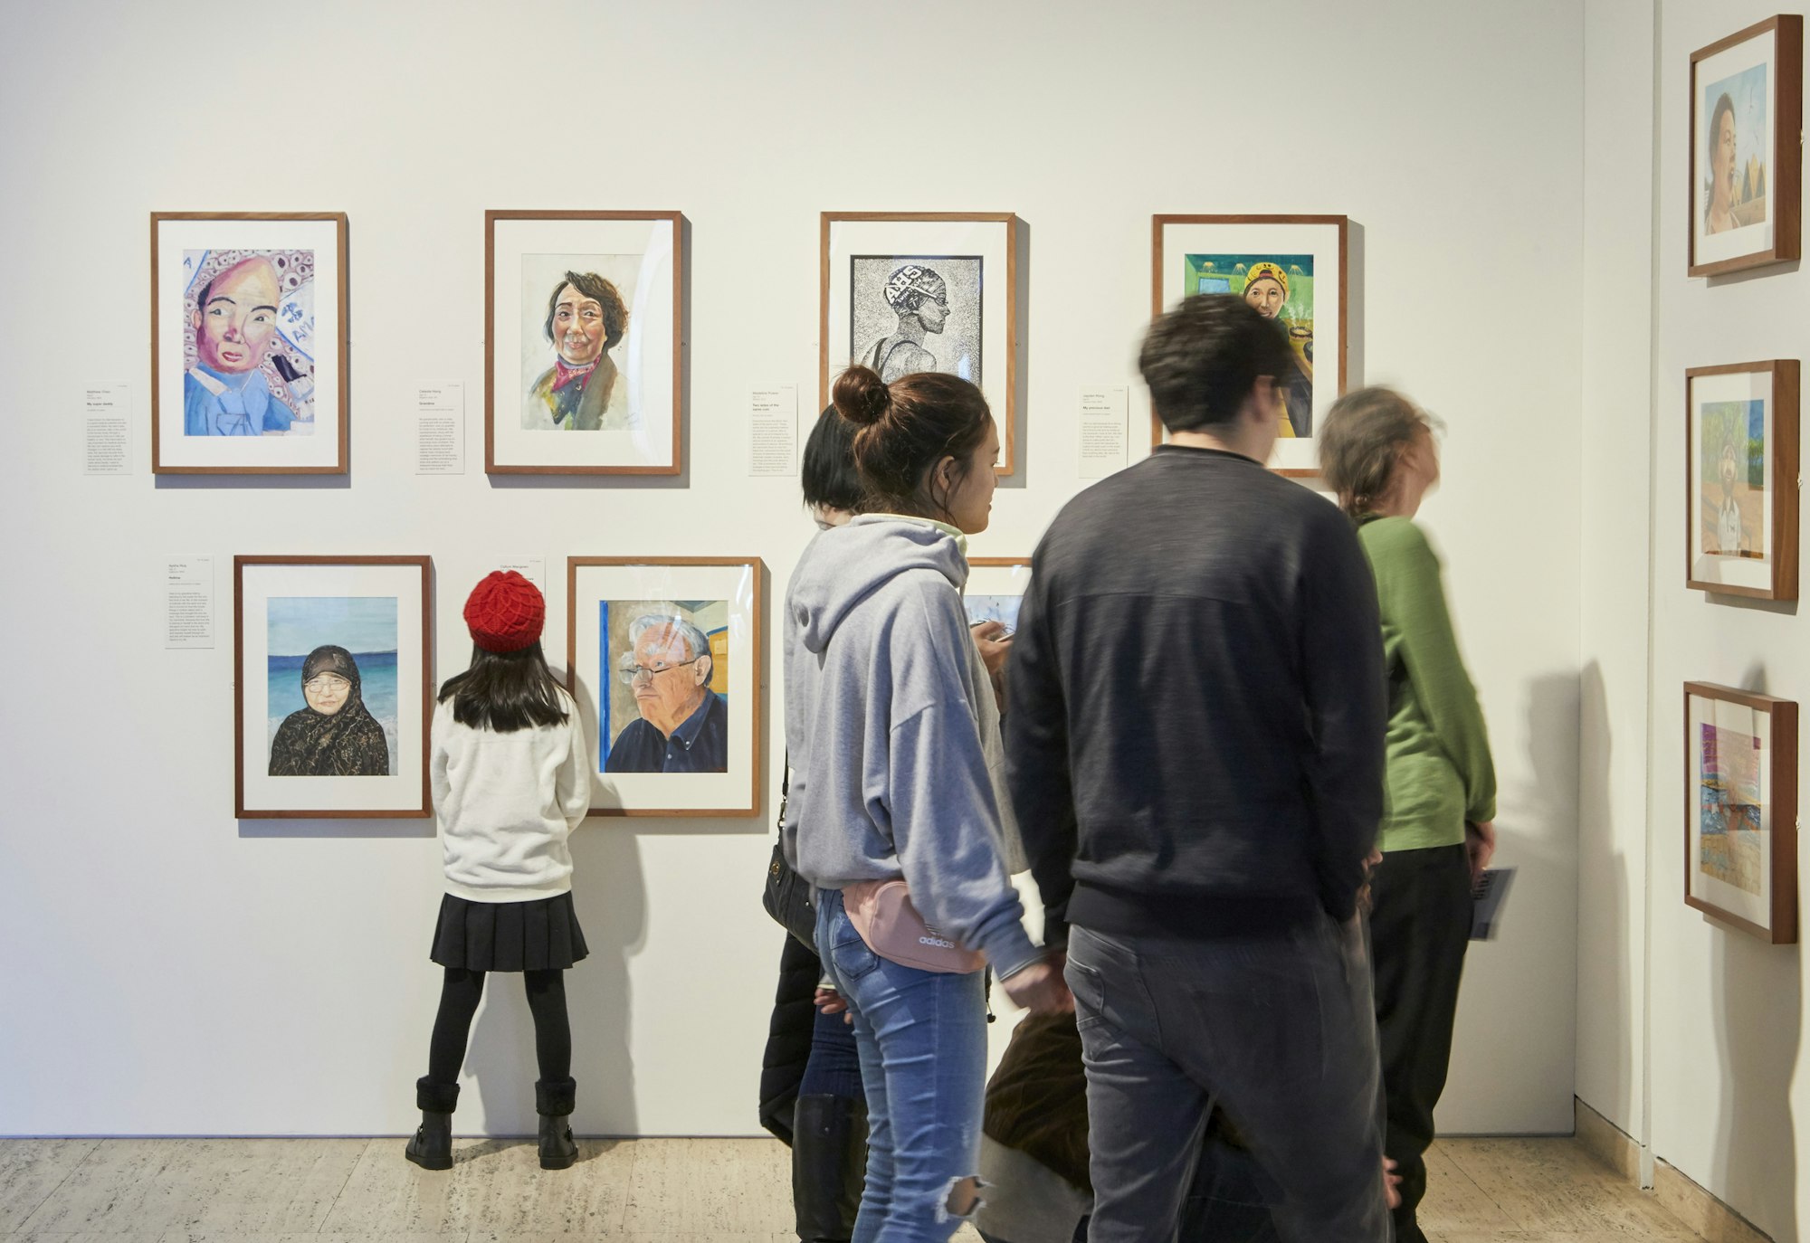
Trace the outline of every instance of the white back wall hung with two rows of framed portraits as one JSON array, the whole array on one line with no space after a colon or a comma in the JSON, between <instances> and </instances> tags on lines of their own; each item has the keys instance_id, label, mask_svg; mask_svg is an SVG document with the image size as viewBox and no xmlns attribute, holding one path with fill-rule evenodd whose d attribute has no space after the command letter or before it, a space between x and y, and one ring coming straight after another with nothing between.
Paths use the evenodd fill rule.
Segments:
<instances>
[{"instance_id":1,"label":"white back wall hung with two rows of framed portraits","mask_svg":"<svg viewBox=\"0 0 1810 1243\"><path fill-rule=\"evenodd\" d=\"M1424 523L1495 738L1500 859L1520 868L1502 939L1470 959L1441 1124L1569 1131L1580 356L1602 313L1571 279L1577 5L929 0L907 31L816 2L5 16L0 1133L413 1125L438 847L420 821L233 820L232 555L431 554L440 677L467 660L465 592L503 557L547 557L550 653L565 651L567 555L760 555L771 603L811 525L795 479L748 476L748 389L795 382L814 400L820 210L1023 221L1021 470L983 555L1028 554L1082 487L1081 385L1133 385L1137 445L1153 212L1352 217L1354 375L1448 423L1448 483ZM684 476L483 476L485 208L684 212ZM154 210L349 215L348 479L148 474ZM1680 340L1714 324L1692 317ZM467 391L467 472L416 476L414 391L445 380ZM129 478L81 474L92 382L130 385ZM210 651L163 648L159 559L176 554L215 557ZM1681 593L1676 608L1790 642L1785 617ZM769 659L769 727L776 671ZM755 1131L780 950L757 899L775 807L769 787L758 820L577 836L581 1131ZM1667 952L1748 955L1694 928L1680 939ZM1718 979L1748 970L1729 966ZM519 986L492 988L460 1127L519 1133L532 1035ZM1700 1055L1716 1049L1714 1010L1678 1001Z\"/></svg>"}]
</instances>

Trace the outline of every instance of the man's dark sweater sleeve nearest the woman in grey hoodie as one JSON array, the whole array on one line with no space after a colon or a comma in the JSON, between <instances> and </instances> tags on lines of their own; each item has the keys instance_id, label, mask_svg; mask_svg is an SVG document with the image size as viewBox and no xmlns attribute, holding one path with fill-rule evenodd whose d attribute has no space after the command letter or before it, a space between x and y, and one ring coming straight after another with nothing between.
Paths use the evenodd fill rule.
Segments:
<instances>
[{"instance_id":1,"label":"man's dark sweater sleeve nearest the woman in grey hoodie","mask_svg":"<svg viewBox=\"0 0 1810 1243\"><path fill-rule=\"evenodd\" d=\"M1043 894L1043 943L1068 944L1068 899L1075 892L1075 796L1068 771L1068 706L1050 633L1041 557L1019 604L1006 678L1006 782L1019 838Z\"/></svg>"}]
</instances>

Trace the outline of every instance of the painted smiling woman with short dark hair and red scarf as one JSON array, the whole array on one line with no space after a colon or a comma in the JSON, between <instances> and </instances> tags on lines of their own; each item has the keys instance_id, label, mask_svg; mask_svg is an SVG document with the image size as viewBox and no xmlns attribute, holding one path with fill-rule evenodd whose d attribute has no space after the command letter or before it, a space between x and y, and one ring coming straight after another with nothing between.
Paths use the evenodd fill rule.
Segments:
<instances>
[{"instance_id":1,"label":"painted smiling woman with short dark hair and red scarf","mask_svg":"<svg viewBox=\"0 0 1810 1243\"><path fill-rule=\"evenodd\" d=\"M547 297L541 335L554 347L554 365L529 385L521 425L539 431L594 432L628 425L617 402L617 369L610 349L628 331L628 304L615 284L595 271L567 271Z\"/></svg>"}]
</instances>

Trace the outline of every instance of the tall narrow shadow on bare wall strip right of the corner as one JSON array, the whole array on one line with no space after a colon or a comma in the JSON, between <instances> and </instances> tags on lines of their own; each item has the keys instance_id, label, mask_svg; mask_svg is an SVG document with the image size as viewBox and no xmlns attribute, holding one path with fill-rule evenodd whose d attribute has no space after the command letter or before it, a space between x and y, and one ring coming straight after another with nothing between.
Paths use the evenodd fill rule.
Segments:
<instances>
[{"instance_id":1,"label":"tall narrow shadow on bare wall strip right of the corner","mask_svg":"<svg viewBox=\"0 0 1810 1243\"><path fill-rule=\"evenodd\" d=\"M1609 995L1596 995L1593 1006L1607 1008L1609 1020L1593 1026L1616 1033L1622 1040L1638 1035L1634 1017L1634 990L1629 975L1629 955L1622 952L1627 928L1633 928L1629 910L1627 854L1615 849L1615 794L1609 787L1615 758L1615 722L1609 720L1609 695L1602 680L1602 666L1591 660L1578 684L1578 878L1595 881L1591 892L1578 890L1578 973L1584 979L1584 959L1593 964L1609 959L1615 982ZM1636 754L1645 753L1645 738L1633 740ZM1613 878L1613 887L1604 879ZM1602 973L1591 972L1586 984L1596 984ZM1582 999L1578 1026L1584 1026ZM1580 1033L1582 1035L1582 1033ZM1609 1100L1589 1100L1616 1125L1627 1125L1634 1115L1634 1058L1627 1048L1616 1055L1615 1086Z\"/></svg>"}]
</instances>

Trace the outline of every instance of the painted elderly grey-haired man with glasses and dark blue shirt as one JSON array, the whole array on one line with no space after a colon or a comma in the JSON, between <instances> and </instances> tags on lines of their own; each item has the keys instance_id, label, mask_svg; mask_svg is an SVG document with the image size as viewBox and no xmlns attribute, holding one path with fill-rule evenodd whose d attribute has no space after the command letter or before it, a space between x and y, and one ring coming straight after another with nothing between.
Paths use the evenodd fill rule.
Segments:
<instances>
[{"instance_id":1,"label":"painted elderly grey-haired man with glasses and dark blue shirt","mask_svg":"<svg viewBox=\"0 0 1810 1243\"><path fill-rule=\"evenodd\" d=\"M728 771L729 706L710 689L710 637L684 617L648 613L630 622L628 644L617 677L641 715L615 736L603 771Z\"/></svg>"}]
</instances>

